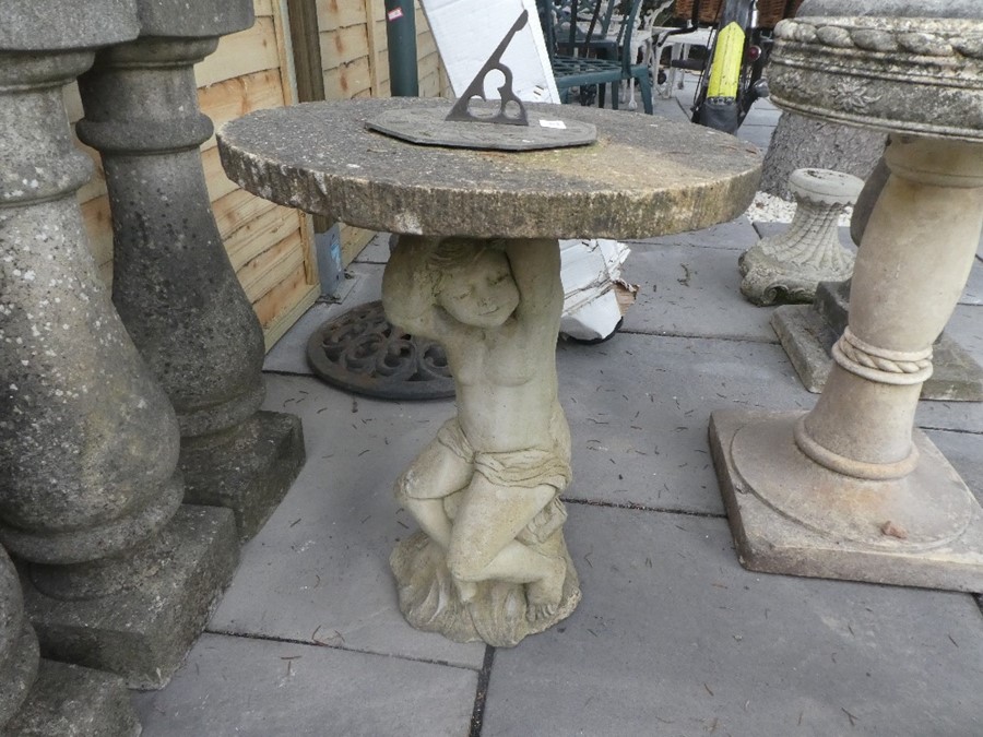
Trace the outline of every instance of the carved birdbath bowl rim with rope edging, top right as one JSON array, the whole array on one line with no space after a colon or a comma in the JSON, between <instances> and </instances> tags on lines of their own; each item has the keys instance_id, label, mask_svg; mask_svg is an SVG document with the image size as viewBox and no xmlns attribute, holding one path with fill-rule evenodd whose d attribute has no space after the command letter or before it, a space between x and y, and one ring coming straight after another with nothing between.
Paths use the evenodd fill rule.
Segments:
<instances>
[{"instance_id":1,"label":"carved birdbath bowl rim with rope edging, top right","mask_svg":"<svg viewBox=\"0 0 983 737\"><path fill-rule=\"evenodd\" d=\"M775 26L785 109L888 132L983 141L983 22L805 17Z\"/></svg>"}]
</instances>

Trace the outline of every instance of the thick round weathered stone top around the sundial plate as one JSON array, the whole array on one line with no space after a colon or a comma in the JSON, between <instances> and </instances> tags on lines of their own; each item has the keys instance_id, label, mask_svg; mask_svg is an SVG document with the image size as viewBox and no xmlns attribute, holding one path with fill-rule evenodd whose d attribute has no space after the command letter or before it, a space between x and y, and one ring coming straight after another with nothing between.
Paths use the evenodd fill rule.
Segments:
<instances>
[{"instance_id":1,"label":"thick round weathered stone top around the sundial plate","mask_svg":"<svg viewBox=\"0 0 983 737\"><path fill-rule=\"evenodd\" d=\"M475 238L644 238L739 215L760 178L754 146L700 126L626 111L529 105L591 123L584 146L499 152L416 145L369 130L387 110L439 98L306 103L258 110L218 132L248 191L351 225ZM489 123L490 124L490 123Z\"/></svg>"}]
</instances>

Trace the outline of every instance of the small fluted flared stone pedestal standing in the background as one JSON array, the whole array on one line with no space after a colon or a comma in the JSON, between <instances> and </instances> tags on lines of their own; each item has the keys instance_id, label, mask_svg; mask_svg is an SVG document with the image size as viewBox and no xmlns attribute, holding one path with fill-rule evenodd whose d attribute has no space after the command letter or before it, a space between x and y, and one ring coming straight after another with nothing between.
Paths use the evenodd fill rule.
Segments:
<instances>
[{"instance_id":1,"label":"small fluted flared stone pedestal standing in the background","mask_svg":"<svg viewBox=\"0 0 983 737\"><path fill-rule=\"evenodd\" d=\"M810 302L820 282L849 278L853 254L840 245L838 221L864 182L829 169L796 169L789 178L797 207L789 229L741 254L741 294L763 307Z\"/></svg>"}]
</instances>

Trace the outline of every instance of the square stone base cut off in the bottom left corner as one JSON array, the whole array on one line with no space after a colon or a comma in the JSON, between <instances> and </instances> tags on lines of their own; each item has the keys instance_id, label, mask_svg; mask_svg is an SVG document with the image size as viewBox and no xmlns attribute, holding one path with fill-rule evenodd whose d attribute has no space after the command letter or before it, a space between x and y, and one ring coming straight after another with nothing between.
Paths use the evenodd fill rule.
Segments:
<instances>
[{"instance_id":1,"label":"square stone base cut off in the bottom left corner","mask_svg":"<svg viewBox=\"0 0 983 737\"><path fill-rule=\"evenodd\" d=\"M4 737L135 737L140 732L140 721L122 678L43 659L27 700L2 734Z\"/></svg>"}]
</instances>

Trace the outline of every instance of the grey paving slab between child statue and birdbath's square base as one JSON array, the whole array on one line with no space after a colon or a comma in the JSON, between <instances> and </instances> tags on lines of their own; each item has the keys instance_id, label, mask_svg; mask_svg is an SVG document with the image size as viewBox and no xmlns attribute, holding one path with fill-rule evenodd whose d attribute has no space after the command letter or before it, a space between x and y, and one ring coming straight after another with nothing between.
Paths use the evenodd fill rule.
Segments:
<instances>
[{"instance_id":1,"label":"grey paving slab between child statue and birdbath's square base","mask_svg":"<svg viewBox=\"0 0 983 737\"><path fill-rule=\"evenodd\" d=\"M808 409L781 346L617 334L557 352L573 439L570 499L723 514L707 441L726 407Z\"/></svg>"}]
</instances>

